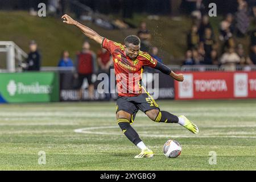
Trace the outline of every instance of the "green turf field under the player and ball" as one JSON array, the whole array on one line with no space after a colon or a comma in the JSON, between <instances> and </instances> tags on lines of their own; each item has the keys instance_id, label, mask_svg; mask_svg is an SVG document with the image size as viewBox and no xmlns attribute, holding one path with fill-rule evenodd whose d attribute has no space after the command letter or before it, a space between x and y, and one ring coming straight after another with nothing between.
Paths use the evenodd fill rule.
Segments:
<instances>
[{"instance_id":1,"label":"green turf field under the player and ball","mask_svg":"<svg viewBox=\"0 0 256 182\"><path fill-rule=\"evenodd\" d=\"M158 104L186 115L200 133L154 123L139 111L133 126L155 152L152 159L134 159L140 151L117 127L114 102L0 105L0 169L256 170L256 100ZM178 158L163 155L168 139L182 145ZM38 164L39 151L46 152L46 164ZM210 151L217 153L215 165Z\"/></svg>"}]
</instances>

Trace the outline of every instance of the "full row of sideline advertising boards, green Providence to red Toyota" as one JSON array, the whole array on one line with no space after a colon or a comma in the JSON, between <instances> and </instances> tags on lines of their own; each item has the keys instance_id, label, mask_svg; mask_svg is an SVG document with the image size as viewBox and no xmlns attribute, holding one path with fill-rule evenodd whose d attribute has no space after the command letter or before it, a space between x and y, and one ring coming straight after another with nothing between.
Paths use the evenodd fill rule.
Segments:
<instances>
[{"instance_id":1,"label":"full row of sideline advertising boards, green Providence to red Toyota","mask_svg":"<svg viewBox=\"0 0 256 182\"><path fill-rule=\"evenodd\" d=\"M184 82L174 81L171 77L159 73L156 98L175 98L175 100L256 98L256 71L182 73ZM146 74L148 73L143 73L143 78ZM154 76L150 77L146 81L155 85L152 79ZM100 82L101 80L97 79L94 82L95 99L108 100L107 94L97 92ZM154 97L155 90L148 88L147 90ZM114 100L118 97L117 93L111 96ZM88 100L86 89L82 100ZM76 79L72 72L0 73L0 103L56 101L79 101Z\"/></svg>"}]
</instances>

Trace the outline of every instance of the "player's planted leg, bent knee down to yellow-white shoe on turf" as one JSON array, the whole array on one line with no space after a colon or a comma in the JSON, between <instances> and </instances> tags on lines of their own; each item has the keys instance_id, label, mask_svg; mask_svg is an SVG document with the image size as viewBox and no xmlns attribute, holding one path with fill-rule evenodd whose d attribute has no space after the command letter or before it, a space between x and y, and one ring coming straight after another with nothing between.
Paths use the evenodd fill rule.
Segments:
<instances>
[{"instance_id":1,"label":"player's planted leg, bent knee down to yellow-white shoe on turf","mask_svg":"<svg viewBox=\"0 0 256 182\"><path fill-rule=\"evenodd\" d=\"M141 153L136 155L134 158L152 158L154 153L152 150L148 149L147 146L142 142L141 138L139 138L138 133L131 127L130 125L131 114L126 111L120 110L117 112L117 123L123 134L135 144L135 146L141 149Z\"/></svg>"}]
</instances>

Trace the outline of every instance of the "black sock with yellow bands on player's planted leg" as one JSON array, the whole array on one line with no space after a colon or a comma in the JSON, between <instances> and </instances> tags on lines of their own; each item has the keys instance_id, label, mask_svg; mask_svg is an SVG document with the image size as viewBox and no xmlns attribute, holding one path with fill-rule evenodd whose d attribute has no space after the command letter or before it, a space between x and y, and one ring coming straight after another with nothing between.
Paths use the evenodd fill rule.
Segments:
<instances>
[{"instance_id":1,"label":"black sock with yellow bands on player's planted leg","mask_svg":"<svg viewBox=\"0 0 256 182\"><path fill-rule=\"evenodd\" d=\"M137 146L139 142L142 140L139 138L138 133L131 127L130 122L126 118L119 118L117 119L117 123L119 127L121 127L123 134Z\"/></svg>"}]
</instances>

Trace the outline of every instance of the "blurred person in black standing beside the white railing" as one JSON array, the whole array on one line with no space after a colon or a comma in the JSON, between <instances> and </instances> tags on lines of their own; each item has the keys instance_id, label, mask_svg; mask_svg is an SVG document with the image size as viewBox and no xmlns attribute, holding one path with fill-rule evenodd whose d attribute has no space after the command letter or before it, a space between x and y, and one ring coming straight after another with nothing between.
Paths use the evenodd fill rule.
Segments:
<instances>
[{"instance_id":1,"label":"blurred person in black standing beside the white railing","mask_svg":"<svg viewBox=\"0 0 256 182\"><path fill-rule=\"evenodd\" d=\"M30 42L30 52L28 53L28 57L26 60L27 71L40 71L41 67L41 55L38 51L38 45L35 40Z\"/></svg>"}]
</instances>

